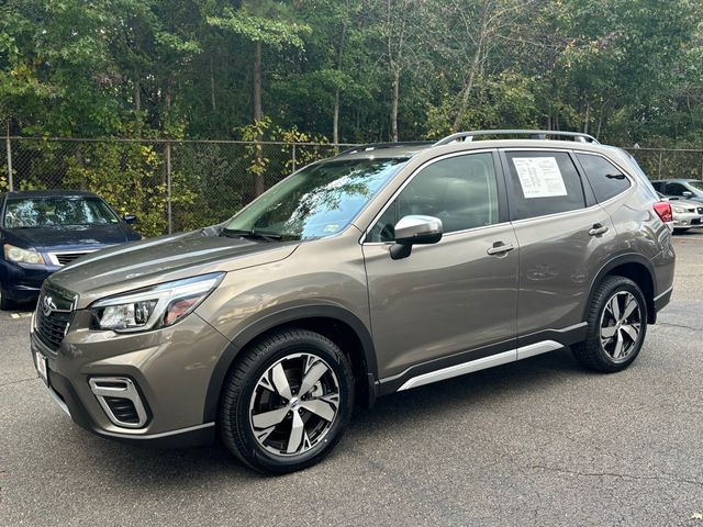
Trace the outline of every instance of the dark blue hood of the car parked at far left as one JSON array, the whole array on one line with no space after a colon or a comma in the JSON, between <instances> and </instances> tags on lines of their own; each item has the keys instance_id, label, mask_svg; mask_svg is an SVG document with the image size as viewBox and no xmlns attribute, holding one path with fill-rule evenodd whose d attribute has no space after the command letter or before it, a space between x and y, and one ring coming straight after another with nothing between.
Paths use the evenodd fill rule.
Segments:
<instances>
[{"instance_id":1,"label":"dark blue hood of the car parked at far left","mask_svg":"<svg viewBox=\"0 0 703 527\"><path fill-rule=\"evenodd\" d=\"M131 233L120 224L7 228L5 232L10 243L44 251L62 247L98 248L124 244L136 237L130 236Z\"/></svg>"}]
</instances>

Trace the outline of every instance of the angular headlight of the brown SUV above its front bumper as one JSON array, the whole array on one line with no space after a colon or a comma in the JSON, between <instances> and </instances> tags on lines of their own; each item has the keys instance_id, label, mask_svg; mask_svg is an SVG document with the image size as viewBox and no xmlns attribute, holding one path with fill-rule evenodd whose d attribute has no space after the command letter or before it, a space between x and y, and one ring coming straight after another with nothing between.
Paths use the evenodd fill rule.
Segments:
<instances>
[{"instance_id":1,"label":"angular headlight of the brown SUV above its front bumper","mask_svg":"<svg viewBox=\"0 0 703 527\"><path fill-rule=\"evenodd\" d=\"M130 333L171 326L198 307L224 274L214 272L111 296L92 304L90 311L99 329Z\"/></svg>"}]
</instances>

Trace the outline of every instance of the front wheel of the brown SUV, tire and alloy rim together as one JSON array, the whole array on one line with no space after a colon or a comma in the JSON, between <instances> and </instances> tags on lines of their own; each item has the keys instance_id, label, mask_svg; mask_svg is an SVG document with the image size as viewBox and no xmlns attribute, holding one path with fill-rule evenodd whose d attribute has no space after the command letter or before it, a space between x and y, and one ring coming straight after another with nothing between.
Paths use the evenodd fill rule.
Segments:
<instances>
[{"instance_id":1,"label":"front wheel of the brown SUV, tire and alloy rim together","mask_svg":"<svg viewBox=\"0 0 703 527\"><path fill-rule=\"evenodd\" d=\"M234 367L219 425L238 459L286 473L333 449L353 405L354 377L342 350L317 333L288 329L258 343Z\"/></svg>"}]
</instances>

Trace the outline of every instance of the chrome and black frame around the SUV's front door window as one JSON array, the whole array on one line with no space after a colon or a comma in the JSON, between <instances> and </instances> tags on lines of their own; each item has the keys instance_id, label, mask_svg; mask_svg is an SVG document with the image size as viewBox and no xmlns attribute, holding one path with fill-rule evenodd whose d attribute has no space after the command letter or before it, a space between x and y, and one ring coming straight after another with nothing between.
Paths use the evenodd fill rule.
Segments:
<instances>
[{"instance_id":1,"label":"chrome and black frame around the SUV's front door window","mask_svg":"<svg viewBox=\"0 0 703 527\"><path fill-rule=\"evenodd\" d=\"M501 164L500 158L499 158L498 148L482 148L482 149L476 149L476 150L460 150L460 152L453 152L450 154L444 154L444 155L440 155L440 156L437 156L437 157L433 157L432 159L427 159L420 167L417 167L415 170L413 170L413 172L410 176L408 176L408 178L405 178L405 180L402 182L402 184L398 189L395 189L395 191L388 199L388 201L386 203L383 203L383 206L373 216L371 222L366 226L366 228L364 229L364 234L359 238L359 244L361 244L361 245L387 245L387 244L391 243L391 242L370 242L368 238L371 235L371 229L377 224L377 222L381 218L383 213L386 213L386 211L390 206L395 206L394 203L395 203L395 200L398 199L398 197L400 195L400 193L425 168L429 167L431 165L434 165L435 162L442 161L444 159L449 159L449 158L453 158L453 157L460 157L460 156L471 156L471 155L476 155L476 154L491 154L491 158L493 160L493 169L495 171L495 186L496 186L496 189L498 189L498 223L495 223L493 225L486 225L486 226L473 227L473 228L468 228L468 229L464 229L464 231L456 231L456 232L453 232L453 233L447 233L447 236L450 236L450 235L454 235L454 234L460 234L460 233L468 232L468 231L476 231L477 228L494 227L495 225L501 225L501 224L507 223L510 221L510 210L509 210L509 205L507 205L507 190L506 190L506 187L505 187L505 176L503 175L503 168L502 168L502 164ZM398 215L398 212L397 212L395 215ZM398 218L398 220L400 220L400 218Z\"/></svg>"}]
</instances>

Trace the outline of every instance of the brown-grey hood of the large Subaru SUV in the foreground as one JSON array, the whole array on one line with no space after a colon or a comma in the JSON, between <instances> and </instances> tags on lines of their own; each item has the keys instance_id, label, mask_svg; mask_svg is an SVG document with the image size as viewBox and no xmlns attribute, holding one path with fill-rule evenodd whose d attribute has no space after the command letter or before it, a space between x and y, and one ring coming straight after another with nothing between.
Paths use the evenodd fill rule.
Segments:
<instances>
[{"instance_id":1,"label":"brown-grey hood of the large Subaru SUV in the foreground","mask_svg":"<svg viewBox=\"0 0 703 527\"><path fill-rule=\"evenodd\" d=\"M101 250L66 266L48 280L78 293L77 307L82 309L97 299L135 289L281 260L299 244L227 238L212 229L196 231Z\"/></svg>"}]
</instances>

